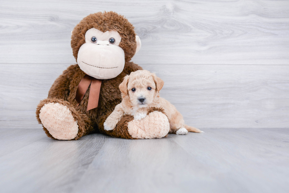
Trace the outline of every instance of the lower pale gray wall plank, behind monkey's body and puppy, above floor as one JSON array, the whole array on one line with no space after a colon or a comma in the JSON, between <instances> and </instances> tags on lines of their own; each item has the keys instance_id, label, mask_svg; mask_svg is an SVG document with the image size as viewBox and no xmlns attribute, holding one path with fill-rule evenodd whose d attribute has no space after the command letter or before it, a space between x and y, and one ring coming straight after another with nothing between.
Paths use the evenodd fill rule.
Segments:
<instances>
[{"instance_id":1,"label":"lower pale gray wall plank, behind monkey's body and puppy, above floor","mask_svg":"<svg viewBox=\"0 0 289 193\"><path fill-rule=\"evenodd\" d=\"M67 64L0 65L0 128L41 128L40 100ZM197 128L288 128L289 65L142 65ZM13 69L13 73L11 73Z\"/></svg>"}]
</instances>

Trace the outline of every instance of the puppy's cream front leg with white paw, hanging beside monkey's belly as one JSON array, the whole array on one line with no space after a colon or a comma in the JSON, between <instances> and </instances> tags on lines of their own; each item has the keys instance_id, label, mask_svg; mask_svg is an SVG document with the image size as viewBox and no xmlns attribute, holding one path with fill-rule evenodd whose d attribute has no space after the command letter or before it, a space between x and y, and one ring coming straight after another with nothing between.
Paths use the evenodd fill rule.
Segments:
<instances>
[{"instance_id":1,"label":"puppy's cream front leg with white paw, hanging beside monkey's belly","mask_svg":"<svg viewBox=\"0 0 289 193\"><path fill-rule=\"evenodd\" d=\"M113 130L123 115L124 110L121 108L121 104L116 105L114 111L106 118L104 129L106 131Z\"/></svg>"}]
</instances>

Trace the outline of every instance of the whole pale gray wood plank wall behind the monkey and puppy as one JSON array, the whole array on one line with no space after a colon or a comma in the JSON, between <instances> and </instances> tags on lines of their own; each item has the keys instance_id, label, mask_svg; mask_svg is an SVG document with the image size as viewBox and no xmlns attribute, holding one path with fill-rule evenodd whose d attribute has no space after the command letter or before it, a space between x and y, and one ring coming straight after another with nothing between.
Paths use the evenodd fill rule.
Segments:
<instances>
[{"instance_id":1,"label":"whole pale gray wood plank wall behind the monkey and puppy","mask_svg":"<svg viewBox=\"0 0 289 193\"><path fill-rule=\"evenodd\" d=\"M38 102L75 63L70 32L116 11L135 26L132 59L198 128L289 127L289 1L1 1L0 127L41 128Z\"/></svg>"}]
</instances>

